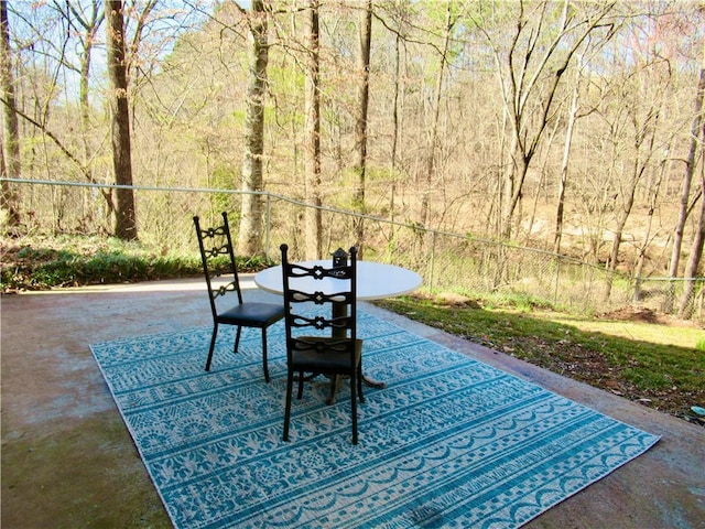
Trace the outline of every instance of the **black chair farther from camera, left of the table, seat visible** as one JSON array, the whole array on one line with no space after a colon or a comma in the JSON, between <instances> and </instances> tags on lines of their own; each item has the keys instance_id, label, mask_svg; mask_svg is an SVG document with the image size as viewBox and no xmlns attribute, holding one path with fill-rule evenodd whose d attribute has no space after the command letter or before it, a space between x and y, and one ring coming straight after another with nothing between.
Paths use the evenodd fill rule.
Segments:
<instances>
[{"instance_id":1,"label":"black chair farther from camera, left of the table, seat visible","mask_svg":"<svg viewBox=\"0 0 705 529\"><path fill-rule=\"evenodd\" d=\"M236 325L238 327L235 338L235 353L240 345L240 333L242 327L257 327L262 330L262 367L264 379L269 382L269 368L267 366L267 327L284 317L284 306L274 303L252 303L242 301L238 268L232 250L232 239L230 237L230 226L228 215L223 212L223 225L215 228L203 229L197 216L194 217L198 247L200 248L200 259L203 271L206 277L208 288L208 300L213 312L213 337L210 338L210 350L206 360L206 371L210 370L213 350L218 335L218 325ZM230 279L227 284L214 285L214 279L225 277ZM218 299L224 299L229 293L237 298L237 304L227 310L218 310ZM223 302L221 302L223 303Z\"/></svg>"}]
</instances>

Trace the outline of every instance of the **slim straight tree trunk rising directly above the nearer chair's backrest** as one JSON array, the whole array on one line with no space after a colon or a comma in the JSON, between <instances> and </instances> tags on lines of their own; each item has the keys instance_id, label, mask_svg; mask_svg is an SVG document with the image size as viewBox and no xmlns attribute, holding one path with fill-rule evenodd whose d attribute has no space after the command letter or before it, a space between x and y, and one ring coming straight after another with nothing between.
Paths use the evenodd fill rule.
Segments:
<instances>
[{"instance_id":1,"label":"slim straight tree trunk rising directly above the nearer chair's backrest","mask_svg":"<svg viewBox=\"0 0 705 529\"><path fill-rule=\"evenodd\" d=\"M323 256L323 215L321 212L321 87L318 48L318 0L308 1L308 50L306 60L306 148L305 196L306 259ZM313 206L313 207L311 207Z\"/></svg>"}]
</instances>

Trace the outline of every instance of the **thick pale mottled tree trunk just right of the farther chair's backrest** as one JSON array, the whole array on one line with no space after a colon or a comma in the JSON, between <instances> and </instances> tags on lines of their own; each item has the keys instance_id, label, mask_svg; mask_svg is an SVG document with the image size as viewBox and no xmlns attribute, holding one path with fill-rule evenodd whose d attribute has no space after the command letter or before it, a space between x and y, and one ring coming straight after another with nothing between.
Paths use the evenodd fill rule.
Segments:
<instances>
[{"instance_id":1,"label":"thick pale mottled tree trunk just right of the farther chair's backrest","mask_svg":"<svg viewBox=\"0 0 705 529\"><path fill-rule=\"evenodd\" d=\"M268 23L264 2L254 0L250 20L250 66L245 117L245 159L242 160L242 208L238 252L262 255L262 197L252 192L264 190L262 156L264 155L264 97L267 93Z\"/></svg>"}]
</instances>

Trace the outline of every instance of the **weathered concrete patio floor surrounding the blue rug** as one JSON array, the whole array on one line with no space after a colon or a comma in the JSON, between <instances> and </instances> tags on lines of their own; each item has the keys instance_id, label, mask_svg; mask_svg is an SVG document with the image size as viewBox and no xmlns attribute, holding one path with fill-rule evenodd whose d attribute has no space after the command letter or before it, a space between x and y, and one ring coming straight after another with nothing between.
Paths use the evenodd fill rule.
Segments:
<instances>
[{"instance_id":1,"label":"weathered concrete patio floor surrounding the blue rug","mask_svg":"<svg viewBox=\"0 0 705 529\"><path fill-rule=\"evenodd\" d=\"M276 299L242 279L246 300ZM525 527L705 528L705 429L372 305L362 309L662 436ZM203 281L8 295L0 311L1 527L171 527L88 345L210 325Z\"/></svg>"}]
</instances>

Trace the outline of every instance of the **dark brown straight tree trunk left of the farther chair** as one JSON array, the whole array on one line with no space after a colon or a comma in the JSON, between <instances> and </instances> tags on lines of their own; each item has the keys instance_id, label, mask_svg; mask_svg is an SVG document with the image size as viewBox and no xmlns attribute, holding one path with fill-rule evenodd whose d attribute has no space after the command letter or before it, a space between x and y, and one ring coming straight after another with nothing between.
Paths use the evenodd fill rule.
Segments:
<instances>
[{"instance_id":1,"label":"dark brown straight tree trunk left of the farther chair","mask_svg":"<svg viewBox=\"0 0 705 529\"><path fill-rule=\"evenodd\" d=\"M117 185L132 185L130 147L130 115L128 106L128 78L124 53L124 22L122 1L105 0L108 48L108 76L110 78L110 112L112 123L112 166ZM134 193L131 188L116 190L116 237L123 240L138 238Z\"/></svg>"}]
</instances>

